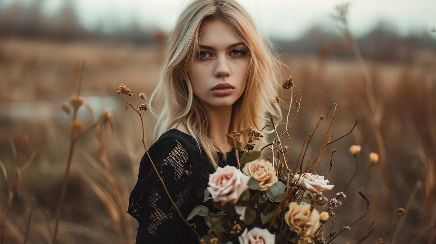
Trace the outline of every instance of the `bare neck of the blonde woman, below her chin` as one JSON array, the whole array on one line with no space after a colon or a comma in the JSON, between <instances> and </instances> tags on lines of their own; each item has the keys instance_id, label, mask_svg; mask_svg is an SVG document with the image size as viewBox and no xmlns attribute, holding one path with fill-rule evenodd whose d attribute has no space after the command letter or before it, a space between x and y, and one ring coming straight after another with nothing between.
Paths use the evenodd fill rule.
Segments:
<instances>
[{"instance_id":1,"label":"bare neck of the blonde woman, below her chin","mask_svg":"<svg viewBox=\"0 0 436 244\"><path fill-rule=\"evenodd\" d=\"M232 118L232 106L217 108L203 104L203 108L208 117L210 136L215 139L215 146L223 152L231 151L232 145L228 143L226 135Z\"/></svg>"}]
</instances>

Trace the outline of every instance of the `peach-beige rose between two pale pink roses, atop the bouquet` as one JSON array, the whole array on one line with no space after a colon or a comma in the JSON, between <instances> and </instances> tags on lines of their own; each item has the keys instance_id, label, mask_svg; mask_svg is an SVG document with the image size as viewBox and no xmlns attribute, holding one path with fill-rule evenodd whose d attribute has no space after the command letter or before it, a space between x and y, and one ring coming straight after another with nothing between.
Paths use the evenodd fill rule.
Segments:
<instances>
[{"instance_id":1,"label":"peach-beige rose between two pale pink roses, atop the bouquet","mask_svg":"<svg viewBox=\"0 0 436 244\"><path fill-rule=\"evenodd\" d=\"M268 190L269 187L279 180L276 175L276 169L272 167L269 161L263 159L246 163L242 173L257 180L260 185L260 191Z\"/></svg>"}]
</instances>

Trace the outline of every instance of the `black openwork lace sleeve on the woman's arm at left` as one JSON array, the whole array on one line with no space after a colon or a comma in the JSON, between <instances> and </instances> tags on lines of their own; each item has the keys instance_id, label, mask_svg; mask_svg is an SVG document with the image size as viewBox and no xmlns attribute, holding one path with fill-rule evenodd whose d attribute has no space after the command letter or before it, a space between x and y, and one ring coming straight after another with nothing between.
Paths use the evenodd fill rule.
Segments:
<instances>
[{"instance_id":1,"label":"black openwork lace sleeve on the woman's arm at left","mask_svg":"<svg viewBox=\"0 0 436 244\"><path fill-rule=\"evenodd\" d=\"M150 148L150 157L164 180L171 198L186 218L191 211L187 203L193 188L188 150L175 139L160 144ZM142 171L148 169L145 163L150 164L146 155L141 160ZM130 195L128 212L139 222L136 243L177 243L180 241L180 235L183 237L189 233L189 236L192 236L191 230L178 216L152 168L145 177L140 169L138 183Z\"/></svg>"}]
</instances>

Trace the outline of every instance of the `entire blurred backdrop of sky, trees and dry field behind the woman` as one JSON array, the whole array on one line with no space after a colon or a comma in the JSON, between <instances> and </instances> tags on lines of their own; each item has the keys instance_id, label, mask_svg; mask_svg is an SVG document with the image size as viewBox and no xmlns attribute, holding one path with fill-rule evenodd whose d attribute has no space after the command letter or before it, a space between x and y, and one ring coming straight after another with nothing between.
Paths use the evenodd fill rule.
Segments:
<instances>
[{"instance_id":1,"label":"entire blurred backdrop of sky, trees and dry field behind the woman","mask_svg":"<svg viewBox=\"0 0 436 244\"><path fill-rule=\"evenodd\" d=\"M360 190L370 200L369 212L336 242L356 243L374 228L365 243L433 244L436 2L350 1L347 24L363 64L341 33L343 25L332 17L342 1L238 2L275 45L283 79L292 75L301 93L301 108L290 130L290 162L298 159L303 139L334 103L328 135L332 140L350 132L359 115L353 132L327 146L320 161L324 168L331 151L337 150L326 176L335 185L324 194L330 199L354 173L349 147L362 146L358 177L333 221L324 226L324 237L365 213ZM83 61L85 106L78 118L89 127L109 110L112 126L92 129L75 147L59 243L134 243L137 223L126 209L144 149L140 119L125 111L116 88L131 88L133 105L140 103L139 91L151 95L166 37L187 3L0 0L0 243L51 243L70 146L72 115L61 103L76 94ZM289 104L290 90L279 95ZM291 123L295 116L293 104ZM156 118L149 111L144 118L150 146ZM321 148L331 117L326 119L303 163ZM367 169L371 152L380 154L380 162ZM398 214L398 208L405 214Z\"/></svg>"}]
</instances>

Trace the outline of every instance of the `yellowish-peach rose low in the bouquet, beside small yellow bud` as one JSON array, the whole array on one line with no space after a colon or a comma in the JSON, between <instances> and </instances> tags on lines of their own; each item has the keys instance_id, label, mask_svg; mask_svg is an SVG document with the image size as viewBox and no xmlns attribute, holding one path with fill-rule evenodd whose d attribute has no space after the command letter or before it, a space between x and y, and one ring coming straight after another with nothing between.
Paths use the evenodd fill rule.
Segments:
<instances>
[{"instance_id":1,"label":"yellowish-peach rose low in the bouquet, beside small yellow bud","mask_svg":"<svg viewBox=\"0 0 436 244\"><path fill-rule=\"evenodd\" d=\"M311 208L311 205L307 203L300 203L300 205L295 202L289 203L285 221L292 231L296 233L303 231L302 234L313 237L321 226L321 222L320 213Z\"/></svg>"}]
</instances>

